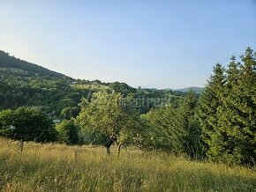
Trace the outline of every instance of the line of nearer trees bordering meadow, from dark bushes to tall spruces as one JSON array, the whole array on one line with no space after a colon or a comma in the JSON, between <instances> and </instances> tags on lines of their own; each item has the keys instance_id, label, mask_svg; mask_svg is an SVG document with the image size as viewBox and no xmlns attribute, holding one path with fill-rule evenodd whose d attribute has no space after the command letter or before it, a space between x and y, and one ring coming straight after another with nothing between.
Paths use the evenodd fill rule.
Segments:
<instances>
[{"instance_id":1,"label":"line of nearer trees bordering meadow, from dark bushes to tall spruces","mask_svg":"<svg viewBox=\"0 0 256 192\"><path fill-rule=\"evenodd\" d=\"M20 107L0 113L0 135L36 142L103 145L118 153L127 145L165 151L190 159L254 165L256 159L256 53L247 48L227 67L216 64L201 95L141 113L136 91L108 89L83 97L63 112L56 125L38 109ZM122 86L121 86L122 88ZM128 87L129 88L129 87ZM125 91L125 90L124 90ZM137 92L138 93L138 92Z\"/></svg>"}]
</instances>

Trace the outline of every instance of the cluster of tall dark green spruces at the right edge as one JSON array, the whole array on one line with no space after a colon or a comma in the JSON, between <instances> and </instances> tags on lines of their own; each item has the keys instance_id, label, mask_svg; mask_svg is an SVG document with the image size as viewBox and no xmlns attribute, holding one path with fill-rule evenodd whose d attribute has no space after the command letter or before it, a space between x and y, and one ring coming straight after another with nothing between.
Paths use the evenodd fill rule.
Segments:
<instances>
[{"instance_id":1,"label":"cluster of tall dark green spruces at the right edge","mask_svg":"<svg viewBox=\"0 0 256 192\"><path fill-rule=\"evenodd\" d=\"M242 63L231 58L224 74L220 67L200 99L198 116L208 145L207 157L235 164L256 159L256 61L248 48Z\"/></svg>"}]
</instances>

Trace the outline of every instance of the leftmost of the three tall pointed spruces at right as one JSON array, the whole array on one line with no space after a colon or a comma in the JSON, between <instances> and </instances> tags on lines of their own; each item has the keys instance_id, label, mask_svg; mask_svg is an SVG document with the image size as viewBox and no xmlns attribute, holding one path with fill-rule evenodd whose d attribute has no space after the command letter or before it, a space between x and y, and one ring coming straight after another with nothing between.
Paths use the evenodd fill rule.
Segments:
<instances>
[{"instance_id":1,"label":"leftmost of the three tall pointed spruces at right","mask_svg":"<svg viewBox=\"0 0 256 192\"><path fill-rule=\"evenodd\" d=\"M212 160L217 160L223 150L223 136L218 130L217 108L222 106L224 84L224 69L221 64L217 63L214 68L214 75L210 77L205 91L200 96L196 110L202 129L201 137L207 144L207 157Z\"/></svg>"}]
</instances>

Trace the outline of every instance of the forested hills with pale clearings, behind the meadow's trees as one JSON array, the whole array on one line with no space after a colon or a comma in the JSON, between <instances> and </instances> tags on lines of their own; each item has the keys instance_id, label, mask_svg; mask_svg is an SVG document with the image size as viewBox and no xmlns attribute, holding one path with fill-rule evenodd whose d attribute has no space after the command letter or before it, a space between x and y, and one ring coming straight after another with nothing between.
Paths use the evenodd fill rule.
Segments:
<instances>
[{"instance_id":1,"label":"forested hills with pale clearings, behind the meadow's trees","mask_svg":"<svg viewBox=\"0 0 256 192\"><path fill-rule=\"evenodd\" d=\"M36 107L53 118L67 118L79 113L82 97L90 99L93 92L112 90L124 96L132 93L140 113L147 113L166 99L177 104L184 95L171 90L137 89L119 82L74 79L0 51L0 110Z\"/></svg>"}]
</instances>

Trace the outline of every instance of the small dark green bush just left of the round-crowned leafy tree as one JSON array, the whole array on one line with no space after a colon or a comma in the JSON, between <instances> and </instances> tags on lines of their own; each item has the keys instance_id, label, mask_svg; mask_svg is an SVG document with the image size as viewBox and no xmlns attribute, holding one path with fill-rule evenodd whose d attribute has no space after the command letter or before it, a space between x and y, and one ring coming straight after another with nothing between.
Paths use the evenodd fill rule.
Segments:
<instances>
[{"instance_id":1,"label":"small dark green bush just left of the round-crowned leafy tree","mask_svg":"<svg viewBox=\"0 0 256 192\"><path fill-rule=\"evenodd\" d=\"M64 120L56 125L57 141L61 144L80 144L80 129L74 120Z\"/></svg>"}]
</instances>

